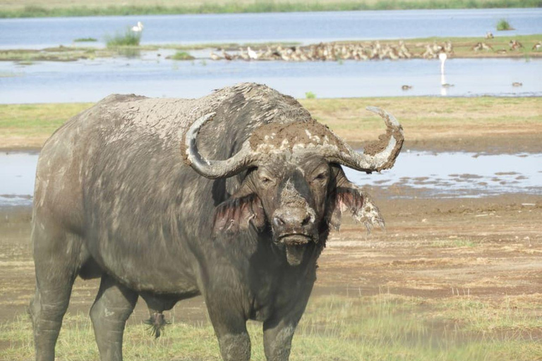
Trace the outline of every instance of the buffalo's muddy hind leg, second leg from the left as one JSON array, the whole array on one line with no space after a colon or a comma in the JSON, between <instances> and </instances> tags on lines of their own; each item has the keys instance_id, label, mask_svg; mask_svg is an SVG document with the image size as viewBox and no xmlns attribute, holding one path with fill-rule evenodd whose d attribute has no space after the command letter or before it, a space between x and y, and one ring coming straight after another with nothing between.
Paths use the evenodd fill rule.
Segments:
<instances>
[{"instance_id":1,"label":"buffalo's muddy hind leg, second leg from the left","mask_svg":"<svg viewBox=\"0 0 542 361\"><path fill-rule=\"evenodd\" d=\"M124 326L137 301L138 293L122 286L110 276L102 276L100 290L90 309L102 361L122 360Z\"/></svg>"}]
</instances>

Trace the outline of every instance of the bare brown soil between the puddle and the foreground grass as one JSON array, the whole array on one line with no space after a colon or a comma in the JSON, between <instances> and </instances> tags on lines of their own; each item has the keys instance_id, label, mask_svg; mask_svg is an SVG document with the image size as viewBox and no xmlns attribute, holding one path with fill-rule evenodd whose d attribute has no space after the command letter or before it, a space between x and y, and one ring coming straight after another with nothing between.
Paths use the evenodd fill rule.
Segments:
<instances>
[{"instance_id":1,"label":"bare brown soil between the puddle and the foreground grass","mask_svg":"<svg viewBox=\"0 0 542 361\"><path fill-rule=\"evenodd\" d=\"M542 196L416 199L407 188L369 189L387 230L366 231L345 218L320 258L318 295L381 292L499 301L542 295ZM392 196L409 195L410 199ZM0 322L25 314L34 289L30 209L0 209ZM87 313L97 281L76 281L69 312ZM176 319L205 320L201 298L181 302ZM147 317L138 303L131 322Z\"/></svg>"}]
</instances>

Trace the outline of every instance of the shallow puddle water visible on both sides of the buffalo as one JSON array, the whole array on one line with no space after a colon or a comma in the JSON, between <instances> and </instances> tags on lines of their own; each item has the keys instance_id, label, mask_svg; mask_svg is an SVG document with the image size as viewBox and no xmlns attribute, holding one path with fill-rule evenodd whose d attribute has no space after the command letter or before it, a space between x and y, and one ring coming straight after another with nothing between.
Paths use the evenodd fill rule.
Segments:
<instances>
[{"instance_id":1,"label":"shallow puddle water visible on both sides of the buffalo","mask_svg":"<svg viewBox=\"0 0 542 361\"><path fill-rule=\"evenodd\" d=\"M0 154L0 207L30 206L37 152ZM345 169L358 185L392 197L485 197L502 193L542 195L542 154L477 154L404 151L390 171L367 175ZM412 192L415 190L415 192Z\"/></svg>"}]
</instances>

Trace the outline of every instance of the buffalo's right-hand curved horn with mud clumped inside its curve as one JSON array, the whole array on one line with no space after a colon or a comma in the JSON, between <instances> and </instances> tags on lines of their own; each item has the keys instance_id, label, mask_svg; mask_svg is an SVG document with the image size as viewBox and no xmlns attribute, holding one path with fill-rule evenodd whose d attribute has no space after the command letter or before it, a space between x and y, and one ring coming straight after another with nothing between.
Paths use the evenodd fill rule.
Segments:
<instances>
[{"instance_id":1,"label":"buffalo's right-hand curved horn with mud clumped inside its curve","mask_svg":"<svg viewBox=\"0 0 542 361\"><path fill-rule=\"evenodd\" d=\"M403 128L397 119L387 111L376 106L368 106L366 109L378 114L384 119L387 126L387 136L389 137L387 146L380 150L380 152L371 154L371 152L356 152L346 142L341 141L342 147L339 148L342 149L326 147L327 149L323 149L324 156L329 161L367 173L390 169L403 146Z\"/></svg>"}]
</instances>

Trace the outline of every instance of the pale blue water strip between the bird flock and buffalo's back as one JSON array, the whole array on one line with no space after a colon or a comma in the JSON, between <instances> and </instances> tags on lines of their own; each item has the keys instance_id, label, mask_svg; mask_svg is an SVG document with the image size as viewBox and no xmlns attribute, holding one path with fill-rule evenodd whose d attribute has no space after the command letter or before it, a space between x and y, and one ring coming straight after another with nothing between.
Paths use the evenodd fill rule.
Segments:
<instances>
[{"instance_id":1,"label":"pale blue water strip between the bird flock and buffalo's back","mask_svg":"<svg viewBox=\"0 0 542 361\"><path fill-rule=\"evenodd\" d=\"M208 53L205 53L208 54ZM238 82L260 82L303 98L378 96L541 96L542 59L450 59L440 86L440 63L403 61L303 62L96 59L70 63L0 62L0 103L96 102L112 93L194 98ZM522 87L512 87L522 82ZM402 85L412 89L402 90Z\"/></svg>"}]
</instances>

